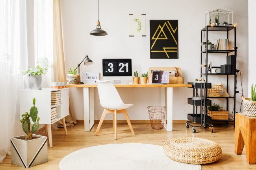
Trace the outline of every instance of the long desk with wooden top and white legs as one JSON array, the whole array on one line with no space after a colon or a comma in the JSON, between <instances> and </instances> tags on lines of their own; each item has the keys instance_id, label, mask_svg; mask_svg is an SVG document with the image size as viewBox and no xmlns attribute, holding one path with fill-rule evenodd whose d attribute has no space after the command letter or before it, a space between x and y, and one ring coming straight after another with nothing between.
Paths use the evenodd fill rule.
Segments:
<instances>
[{"instance_id":1,"label":"long desk with wooden top and white legs","mask_svg":"<svg viewBox=\"0 0 256 170\"><path fill-rule=\"evenodd\" d=\"M84 130L90 131L94 125L94 88L96 84L67 84L66 87L83 88ZM165 129L173 131L173 88L192 87L191 84L115 84L117 88L161 88L161 106L166 106Z\"/></svg>"}]
</instances>

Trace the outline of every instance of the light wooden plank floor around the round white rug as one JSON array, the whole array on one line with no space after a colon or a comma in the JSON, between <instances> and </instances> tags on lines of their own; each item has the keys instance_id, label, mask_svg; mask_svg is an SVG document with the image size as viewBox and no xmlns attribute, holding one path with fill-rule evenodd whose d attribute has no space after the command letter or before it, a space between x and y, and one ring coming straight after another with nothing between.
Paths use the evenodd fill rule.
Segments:
<instances>
[{"instance_id":1,"label":"light wooden plank floor around the round white rug","mask_svg":"<svg viewBox=\"0 0 256 170\"><path fill-rule=\"evenodd\" d=\"M197 133L192 129L187 129L184 123L174 124L174 131L153 130L150 124L135 123L132 124L135 136L132 135L128 124L117 124L117 140L114 140L112 124L104 123L98 133L94 136L97 124L91 132L83 131L83 124L79 123L74 128L68 128L68 135L64 135L63 129L52 132L53 148L48 144L48 162L34 166L30 170L58 170L59 161L67 154L76 150L95 146L100 144L113 143L148 143L162 146L163 143L174 137L200 137L210 139L220 144L222 148L222 157L215 163L202 165L203 170L256 170L256 165L246 163L245 150L242 155L234 154L234 128L231 124L215 125L214 132L210 129L197 128ZM8 155L2 164L0 170L24 170L25 168L12 165Z\"/></svg>"}]
</instances>

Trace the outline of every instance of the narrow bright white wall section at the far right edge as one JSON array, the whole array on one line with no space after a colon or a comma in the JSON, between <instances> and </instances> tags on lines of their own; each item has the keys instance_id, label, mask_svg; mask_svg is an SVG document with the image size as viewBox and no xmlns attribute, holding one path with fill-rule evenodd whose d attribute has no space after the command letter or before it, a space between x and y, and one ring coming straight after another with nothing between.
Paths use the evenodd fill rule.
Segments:
<instances>
[{"instance_id":1,"label":"narrow bright white wall section at the far right edge","mask_svg":"<svg viewBox=\"0 0 256 170\"><path fill-rule=\"evenodd\" d=\"M255 16L256 11L255 7L256 1L255 0L248 0L248 27L249 27L249 66L248 66L248 95L250 97L250 88L252 84L256 84L256 76L255 76L255 64L256 64L256 22Z\"/></svg>"}]
</instances>

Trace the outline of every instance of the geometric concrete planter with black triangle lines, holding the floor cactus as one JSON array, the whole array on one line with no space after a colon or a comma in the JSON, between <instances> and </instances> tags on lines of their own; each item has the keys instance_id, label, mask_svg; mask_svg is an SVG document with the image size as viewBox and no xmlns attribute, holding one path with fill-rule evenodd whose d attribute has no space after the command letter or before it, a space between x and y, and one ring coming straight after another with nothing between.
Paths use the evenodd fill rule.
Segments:
<instances>
[{"instance_id":1,"label":"geometric concrete planter with black triangle lines, holding the floor cactus","mask_svg":"<svg viewBox=\"0 0 256 170\"><path fill-rule=\"evenodd\" d=\"M11 163L25 168L30 168L48 161L47 159L47 137L39 137L30 141L21 140L22 136L11 138Z\"/></svg>"}]
</instances>

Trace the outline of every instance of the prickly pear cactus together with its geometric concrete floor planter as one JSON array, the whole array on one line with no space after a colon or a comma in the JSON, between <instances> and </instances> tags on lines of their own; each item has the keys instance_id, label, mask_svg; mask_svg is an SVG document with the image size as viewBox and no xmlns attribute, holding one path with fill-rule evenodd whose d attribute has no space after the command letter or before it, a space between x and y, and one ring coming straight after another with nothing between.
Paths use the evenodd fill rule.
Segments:
<instances>
[{"instance_id":1,"label":"prickly pear cactus together with its geometric concrete floor planter","mask_svg":"<svg viewBox=\"0 0 256 170\"><path fill-rule=\"evenodd\" d=\"M30 113L22 114L20 122L26 135L11 138L11 163L25 168L47 162L47 137L35 135L39 128L39 117L37 117L35 98ZM33 126L30 128L30 120Z\"/></svg>"}]
</instances>

